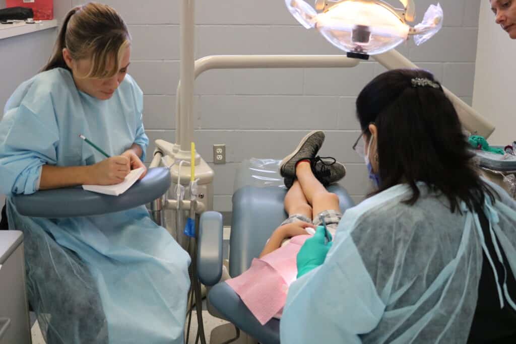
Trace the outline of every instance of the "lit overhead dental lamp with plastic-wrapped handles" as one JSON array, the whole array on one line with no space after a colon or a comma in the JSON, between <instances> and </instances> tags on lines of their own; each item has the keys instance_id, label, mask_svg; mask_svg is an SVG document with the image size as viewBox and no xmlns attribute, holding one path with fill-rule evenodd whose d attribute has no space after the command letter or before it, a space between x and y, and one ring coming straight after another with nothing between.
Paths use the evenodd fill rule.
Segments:
<instances>
[{"instance_id":1,"label":"lit overhead dental lamp with plastic-wrapped handles","mask_svg":"<svg viewBox=\"0 0 516 344\"><path fill-rule=\"evenodd\" d=\"M389 51L410 36L420 45L441 29L443 10L439 4L431 5L423 22L411 27L407 22L415 19L414 1L400 2L403 9L381 0L316 0L314 9L304 0L285 0L305 28L315 27L348 57L362 59Z\"/></svg>"}]
</instances>

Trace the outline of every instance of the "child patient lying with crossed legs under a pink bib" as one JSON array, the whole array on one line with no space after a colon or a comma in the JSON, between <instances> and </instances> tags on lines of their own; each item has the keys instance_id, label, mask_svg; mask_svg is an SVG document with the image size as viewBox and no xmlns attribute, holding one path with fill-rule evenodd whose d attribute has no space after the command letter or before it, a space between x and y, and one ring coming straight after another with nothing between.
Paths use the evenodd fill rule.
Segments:
<instances>
[{"instance_id":1,"label":"child patient lying with crossed legs under a pink bib","mask_svg":"<svg viewBox=\"0 0 516 344\"><path fill-rule=\"evenodd\" d=\"M317 156L324 139L325 134L320 130L309 133L281 161L280 174L288 188L284 201L288 218L272 233L251 267L225 281L261 324L281 317L288 286L298 275L297 253L311 237L307 228L325 223L328 232L334 235L342 218L338 196L328 192L325 186L342 179L346 168L334 158Z\"/></svg>"}]
</instances>

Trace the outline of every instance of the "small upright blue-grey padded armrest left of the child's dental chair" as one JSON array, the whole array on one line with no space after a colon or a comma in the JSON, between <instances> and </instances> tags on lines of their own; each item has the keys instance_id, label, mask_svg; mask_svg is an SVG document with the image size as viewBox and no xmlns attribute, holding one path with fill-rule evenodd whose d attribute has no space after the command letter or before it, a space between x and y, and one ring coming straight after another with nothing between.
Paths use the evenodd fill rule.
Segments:
<instances>
[{"instance_id":1,"label":"small upright blue-grey padded armrest left of the child's dental chair","mask_svg":"<svg viewBox=\"0 0 516 344\"><path fill-rule=\"evenodd\" d=\"M197 271L206 286L217 284L222 275L222 230L220 212L203 212L199 221Z\"/></svg>"}]
</instances>

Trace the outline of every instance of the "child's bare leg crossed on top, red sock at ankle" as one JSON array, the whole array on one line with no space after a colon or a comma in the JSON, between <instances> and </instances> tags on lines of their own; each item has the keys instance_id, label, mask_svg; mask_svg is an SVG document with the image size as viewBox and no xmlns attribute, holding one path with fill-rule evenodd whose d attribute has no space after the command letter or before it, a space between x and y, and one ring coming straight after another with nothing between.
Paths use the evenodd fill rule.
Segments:
<instances>
[{"instance_id":1,"label":"child's bare leg crossed on top, red sock at ankle","mask_svg":"<svg viewBox=\"0 0 516 344\"><path fill-rule=\"evenodd\" d=\"M312 172L309 161L300 161L297 164L296 177L305 199L312 205L312 219L325 210L340 211L338 196L328 192L317 180Z\"/></svg>"}]
</instances>

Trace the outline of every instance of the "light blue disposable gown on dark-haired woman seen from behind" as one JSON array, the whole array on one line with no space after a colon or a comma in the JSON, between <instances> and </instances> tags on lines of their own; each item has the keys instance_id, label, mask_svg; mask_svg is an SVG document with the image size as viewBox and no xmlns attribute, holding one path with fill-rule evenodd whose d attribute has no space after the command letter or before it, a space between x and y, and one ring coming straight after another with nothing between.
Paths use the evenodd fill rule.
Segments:
<instances>
[{"instance_id":1,"label":"light blue disposable gown on dark-haired woman seen from behind","mask_svg":"<svg viewBox=\"0 0 516 344\"><path fill-rule=\"evenodd\" d=\"M502 199L486 201L490 232L514 273L516 203L492 186ZM478 216L464 205L452 214L446 198L419 188L413 206L398 185L345 212L325 263L289 288L282 344L466 343L482 270ZM500 305L516 309L504 289Z\"/></svg>"}]
</instances>

